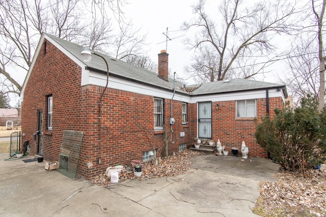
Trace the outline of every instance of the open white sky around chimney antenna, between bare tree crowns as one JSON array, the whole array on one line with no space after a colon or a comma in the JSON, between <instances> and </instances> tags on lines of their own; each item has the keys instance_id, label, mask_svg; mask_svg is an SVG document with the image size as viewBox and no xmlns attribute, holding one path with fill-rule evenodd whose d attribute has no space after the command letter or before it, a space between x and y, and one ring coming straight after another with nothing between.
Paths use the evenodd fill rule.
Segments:
<instances>
[{"instance_id":1,"label":"open white sky around chimney antenna, between bare tree crowns","mask_svg":"<svg viewBox=\"0 0 326 217\"><path fill-rule=\"evenodd\" d=\"M176 72L177 76L187 78L183 73L184 66L190 62L193 51L187 51L183 40L185 33L180 31L184 21L192 16L191 5L197 0L133 0L131 4L124 7L127 18L132 19L135 26L142 28L147 33L149 45L148 55L157 63L157 54L161 50L169 53L169 69ZM166 46L166 34L168 27L168 46ZM187 33L189 34L189 33ZM191 84L191 82L189 82Z\"/></svg>"}]
</instances>

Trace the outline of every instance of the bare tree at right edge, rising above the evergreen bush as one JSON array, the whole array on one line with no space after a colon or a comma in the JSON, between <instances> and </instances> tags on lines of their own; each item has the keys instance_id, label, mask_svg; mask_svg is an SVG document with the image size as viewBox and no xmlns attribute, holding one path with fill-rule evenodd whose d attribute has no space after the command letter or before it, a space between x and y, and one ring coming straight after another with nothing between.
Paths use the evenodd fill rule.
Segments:
<instances>
[{"instance_id":1,"label":"bare tree at right edge, rising above the evergreen bush","mask_svg":"<svg viewBox=\"0 0 326 217\"><path fill-rule=\"evenodd\" d=\"M291 51L285 58L285 79L292 94L294 105L301 98L313 95L318 100L318 110L324 107L325 95L325 54L323 51L323 15L326 0L311 0L303 6L306 13L297 17L303 28L298 31L291 43Z\"/></svg>"}]
</instances>

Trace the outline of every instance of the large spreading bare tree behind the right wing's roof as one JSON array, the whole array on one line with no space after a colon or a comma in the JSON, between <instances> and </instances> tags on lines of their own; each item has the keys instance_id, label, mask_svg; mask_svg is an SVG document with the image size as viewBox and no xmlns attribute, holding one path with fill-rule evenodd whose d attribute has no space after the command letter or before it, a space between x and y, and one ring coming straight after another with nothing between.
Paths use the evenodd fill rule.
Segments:
<instances>
[{"instance_id":1,"label":"large spreading bare tree behind the right wing's roof","mask_svg":"<svg viewBox=\"0 0 326 217\"><path fill-rule=\"evenodd\" d=\"M195 19L191 22L184 22L183 28L189 30L196 28L197 35L193 39L187 39L185 42L189 49L195 49L200 53L202 67L195 63L193 67L197 69L206 68L209 63L205 50L213 54L215 61L214 80L223 80L230 77L232 73L238 71L241 73L241 65L236 64L237 58L256 59L261 56L267 56L275 48L271 39L276 34L287 33L290 16L294 13L294 7L283 1L267 1L253 4L252 7L243 6L243 0L224 0L219 13L221 18L212 19L205 12L205 0L193 6ZM253 61L254 63L254 61ZM253 65L250 64L250 65ZM261 70L261 69L259 69ZM206 70L211 74L210 70ZM197 71L203 74L202 71ZM251 72L242 77L252 77L258 72ZM229 76L228 76L229 74ZM211 77L211 75L208 75ZM239 75L237 77L240 77ZM211 79L210 79L211 80Z\"/></svg>"}]
</instances>

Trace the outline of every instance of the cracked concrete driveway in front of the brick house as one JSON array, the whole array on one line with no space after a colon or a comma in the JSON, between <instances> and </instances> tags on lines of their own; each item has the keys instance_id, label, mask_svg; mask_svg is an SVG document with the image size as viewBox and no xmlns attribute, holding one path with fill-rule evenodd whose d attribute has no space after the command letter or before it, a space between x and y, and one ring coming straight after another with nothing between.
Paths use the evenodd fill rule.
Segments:
<instances>
[{"instance_id":1,"label":"cracked concrete driveway in front of the brick house","mask_svg":"<svg viewBox=\"0 0 326 217\"><path fill-rule=\"evenodd\" d=\"M186 174L104 188L8 155L0 154L0 216L258 216L251 209L259 182L279 169L265 159L205 155Z\"/></svg>"}]
</instances>

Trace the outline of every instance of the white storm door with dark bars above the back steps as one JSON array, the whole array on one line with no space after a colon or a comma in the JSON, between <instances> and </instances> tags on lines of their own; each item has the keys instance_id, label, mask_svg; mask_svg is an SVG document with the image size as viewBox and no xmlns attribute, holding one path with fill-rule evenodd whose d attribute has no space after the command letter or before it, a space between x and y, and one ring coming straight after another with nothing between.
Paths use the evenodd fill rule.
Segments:
<instances>
[{"instance_id":1,"label":"white storm door with dark bars above the back steps","mask_svg":"<svg viewBox=\"0 0 326 217\"><path fill-rule=\"evenodd\" d=\"M212 103L198 103L198 138L212 138Z\"/></svg>"}]
</instances>

